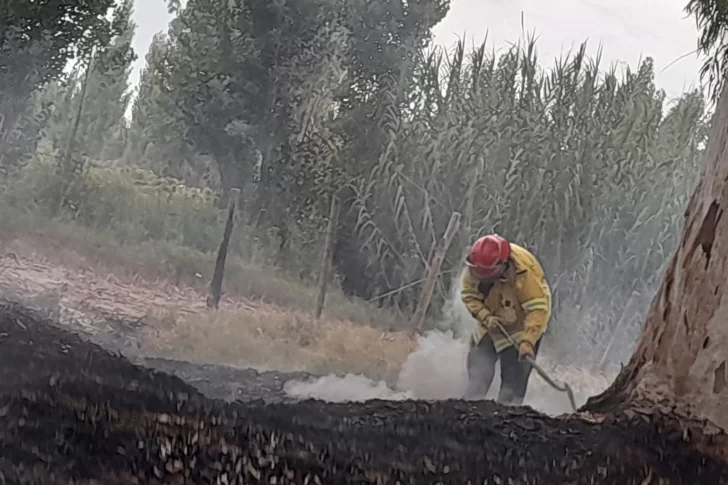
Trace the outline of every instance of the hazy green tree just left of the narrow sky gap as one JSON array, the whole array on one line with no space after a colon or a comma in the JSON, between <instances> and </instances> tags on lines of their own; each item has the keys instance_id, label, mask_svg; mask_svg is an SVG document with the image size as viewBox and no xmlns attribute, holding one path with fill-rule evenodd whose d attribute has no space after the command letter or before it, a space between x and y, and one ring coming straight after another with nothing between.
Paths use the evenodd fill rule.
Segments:
<instances>
[{"instance_id":1,"label":"hazy green tree just left of the narrow sky gap","mask_svg":"<svg viewBox=\"0 0 728 485\"><path fill-rule=\"evenodd\" d=\"M111 18L114 35L108 43L96 46L86 62L76 63L65 79L52 80L36 91L37 100L28 108L48 111L35 132L39 133L40 151L57 159L56 195L47 201L55 208L52 213L73 204L67 195L76 190L73 186L80 182L87 158L119 159L123 154L128 77L136 58L131 47L135 30L131 14L132 0L121 2ZM33 151L25 147L26 154Z\"/></svg>"}]
</instances>

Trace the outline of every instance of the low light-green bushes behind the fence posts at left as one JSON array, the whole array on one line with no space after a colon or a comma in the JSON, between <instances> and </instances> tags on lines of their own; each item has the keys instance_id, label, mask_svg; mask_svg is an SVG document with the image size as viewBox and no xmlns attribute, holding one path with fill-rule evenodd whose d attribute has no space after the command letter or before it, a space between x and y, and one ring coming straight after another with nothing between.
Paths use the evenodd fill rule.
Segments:
<instances>
[{"instance_id":1,"label":"low light-green bushes behind the fence posts at left","mask_svg":"<svg viewBox=\"0 0 728 485\"><path fill-rule=\"evenodd\" d=\"M37 153L5 192L5 202L16 210L52 214L49 203L57 186L56 158L52 153ZM66 195L64 218L111 235L122 245L164 242L208 255L217 252L225 214L218 210L218 196L212 189L189 187L126 163L86 162ZM251 231L244 220L238 221L231 238L233 257L278 267L270 249L275 247L275 236ZM306 253L307 249L295 244L293 250L301 260L294 267L279 268L281 273L313 281L319 248L313 247L312 253Z\"/></svg>"}]
</instances>

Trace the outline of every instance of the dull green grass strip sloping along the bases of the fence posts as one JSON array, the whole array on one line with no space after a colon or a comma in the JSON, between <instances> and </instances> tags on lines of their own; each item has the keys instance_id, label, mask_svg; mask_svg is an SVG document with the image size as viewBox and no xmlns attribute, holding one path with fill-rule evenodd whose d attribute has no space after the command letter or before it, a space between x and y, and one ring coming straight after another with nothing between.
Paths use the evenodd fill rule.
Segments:
<instances>
[{"instance_id":1,"label":"dull green grass strip sloping along the bases of the fence posts","mask_svg":"<svg viewBox=\"0 0 728 485\"><path fill-rule=\"evenodd\" d=\"M56 252L75 264L79 258L99 270L148 280L164 279L178 286L206 291L216 254L202 252L167 241L120 243L112 234L74 222L50 219L38 214L0 211L0 241L31 238L38 249ZM222 228L220 228L222 233ZM271 303L285 308L313 311L318 288L296 281L272 268L243 262L229 255L223 291L231 296ZM325 313L338 319L376 324L383 328L406 327L403 316L380 310L361 300L347 298L336 287L327 291Z\"/></svg>"}]
</instances>

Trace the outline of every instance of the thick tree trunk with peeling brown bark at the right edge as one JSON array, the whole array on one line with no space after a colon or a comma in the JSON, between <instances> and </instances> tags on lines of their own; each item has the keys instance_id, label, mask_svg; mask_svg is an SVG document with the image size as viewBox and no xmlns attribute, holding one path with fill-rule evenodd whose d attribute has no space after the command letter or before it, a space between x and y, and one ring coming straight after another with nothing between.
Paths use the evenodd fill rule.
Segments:
<instances>
[{"instance_id":1,"label":"thick tree trunk with peeling brown bark at the right edge","mask_svg":"<svg viewBox=\"0 0 728 485\"><path fill-rule=\"evenodd\" d=\"M632 359L586 409L668 409L728 430L728 92L713 117L682 239ZM719 451L719 450L714 450ZM723 453L728 449L723 449ZM728 458L728 455L724 455Z\"/></svg>"}]
</instances>

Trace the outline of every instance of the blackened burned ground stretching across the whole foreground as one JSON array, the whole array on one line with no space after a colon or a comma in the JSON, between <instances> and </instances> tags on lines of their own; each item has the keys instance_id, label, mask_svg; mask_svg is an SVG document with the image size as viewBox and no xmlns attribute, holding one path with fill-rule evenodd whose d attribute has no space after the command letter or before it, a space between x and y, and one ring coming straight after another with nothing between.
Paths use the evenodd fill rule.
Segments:
<instances>
[{"instance_id":1,"label":"blackened burned ground stretching across the whole foreground","mask_svg":"<svg viewBox=\"0 0 728 485\"><path fill-rule=\"evenodd\" d=\"M0 483L728 483L658 415L230 403L10 304L0 355Z\"/></svg>"}]
</instances>

